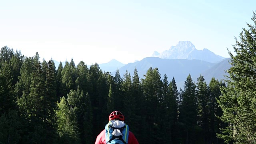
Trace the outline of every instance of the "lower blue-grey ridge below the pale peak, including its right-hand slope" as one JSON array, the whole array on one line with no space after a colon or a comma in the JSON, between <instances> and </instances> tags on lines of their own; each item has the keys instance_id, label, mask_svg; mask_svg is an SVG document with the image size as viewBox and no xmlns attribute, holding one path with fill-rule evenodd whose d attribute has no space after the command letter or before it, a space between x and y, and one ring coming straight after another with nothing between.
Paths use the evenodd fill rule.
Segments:
<instances>
[{"instance_id":1,"label":"lower blue-grey ridge below the pale peak, including its right-hand slope","mask_svg":"<svg viewBox=\"0 0 256 144\"><path fill-rule=\"evenodd\" d=\"M186 59L162 59L158 57L148 57L144 58L138 62L129 63L119 68L120 76L123 77L126 70L130 72L131 76L134 74L134 69L137 68L138 76L144 78L144 74L148 71L150 67L158 68L161 78L164 74L167 75L168 81L174 77L177 87L180 88L184 86L184 82L190 74L194 82L197 82L197 78L202 74L206 81L206 84L209 84L212 77L222 80L225 79L224 75L231 65L228 63L230 58L226 58L219 63L206 62L204 60L186 60ZM111 72L114 76L116 70Z\"/></svg>"}]
</instances>

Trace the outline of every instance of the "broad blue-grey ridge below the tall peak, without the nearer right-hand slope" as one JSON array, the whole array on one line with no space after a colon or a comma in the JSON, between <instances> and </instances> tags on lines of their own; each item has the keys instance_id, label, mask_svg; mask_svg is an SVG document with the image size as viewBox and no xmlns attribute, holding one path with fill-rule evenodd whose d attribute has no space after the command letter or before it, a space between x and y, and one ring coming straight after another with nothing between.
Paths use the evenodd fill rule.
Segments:
<instances>
[{"instance_id":1,"label":"broad blue-grey ridge below the tall peak, without the nearer right-hand slope","mask_svg":"<svg viewBox=\"0 0 256 144\"><path fill-rule=\"evenodd\" d=\"M163 78L164 74L168 76L169 82L174 77L178 88L184 85L184 80L188 74L191 76L197 76L199 73L204 72L205 70L214 66L214 63L206 62L203 60L186 60L186 59L162 59L158 57L148 57L144 58L138 62L129 63L119 68L120 76L123 77L126 70L130 72L131 76L134 74L134 69L137 68L138 76L144 78L143 74L146 74L150 67L158 68L161 77ZM114 72L111 72L113 75Z\"/></svg>"}]
</instances>

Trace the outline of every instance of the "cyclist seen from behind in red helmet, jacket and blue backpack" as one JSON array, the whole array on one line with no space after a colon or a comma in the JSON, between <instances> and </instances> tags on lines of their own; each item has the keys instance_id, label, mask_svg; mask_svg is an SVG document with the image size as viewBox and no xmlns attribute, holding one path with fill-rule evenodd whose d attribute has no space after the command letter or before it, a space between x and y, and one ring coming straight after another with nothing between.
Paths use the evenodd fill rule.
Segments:
<instances>
[{"instance_id":1,"label":"cyclist seen from behind in red helmet, jacket and blue backpack","mask_svg":"<svg viewBox=\"0 0 256 144\"><path fill-rule=\"evenodd\" d=\"M97 136L95 144L139 144L128 125L124 123L122 112L112 112L108 120L105 129Z\"/></svg>"}]
</instances>

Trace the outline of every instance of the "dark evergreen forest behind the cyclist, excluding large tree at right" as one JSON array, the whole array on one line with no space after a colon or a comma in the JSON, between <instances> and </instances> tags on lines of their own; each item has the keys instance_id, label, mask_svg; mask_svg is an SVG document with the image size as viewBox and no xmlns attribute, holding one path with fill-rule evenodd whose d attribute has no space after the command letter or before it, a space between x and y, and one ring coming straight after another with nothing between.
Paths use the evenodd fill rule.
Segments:
<instances>
[{"instance_id":1,"label":"dark evergreen forest behind the cyclist, excluding large tree at right","mask_svg":"<svg viewBox=\"0 0 256 144\"><path fill-rule=\"evenodd\" d=\"M158 68L144 78L126 72L121 78L102 72L98 64L83 61L55 67L53 60L24 57L7 46L0 52L1 134L3 143L92 144L120 110L140 143L217 143L224 123L216 99L224 82L212 78L209 86L190 75L184 89L175 78L161 79Z\"/></svg>"}]
</instances>

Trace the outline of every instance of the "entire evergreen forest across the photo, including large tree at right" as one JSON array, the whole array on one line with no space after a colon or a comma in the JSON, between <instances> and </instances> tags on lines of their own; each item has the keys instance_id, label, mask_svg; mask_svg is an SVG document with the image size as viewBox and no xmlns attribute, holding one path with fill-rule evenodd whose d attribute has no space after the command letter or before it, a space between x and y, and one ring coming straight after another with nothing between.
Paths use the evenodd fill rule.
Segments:
<instances>
[{"instance_id":1,"label":"entire evergreen forest across the photo, including large tree at right","mask_svg":"<svg viewBox=\"0 0 256 144\"><path fill-rule=\"evenodd\" d=\"M120 76L73 59L55 66L36 53L0 51L0 144L93 144L119 110L140 144L256 142L256 14L233 45L226 80L184 88L150 67ZM175 68L173 68L175 70Z\"/></svg>"}]
</instances>

